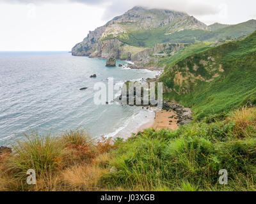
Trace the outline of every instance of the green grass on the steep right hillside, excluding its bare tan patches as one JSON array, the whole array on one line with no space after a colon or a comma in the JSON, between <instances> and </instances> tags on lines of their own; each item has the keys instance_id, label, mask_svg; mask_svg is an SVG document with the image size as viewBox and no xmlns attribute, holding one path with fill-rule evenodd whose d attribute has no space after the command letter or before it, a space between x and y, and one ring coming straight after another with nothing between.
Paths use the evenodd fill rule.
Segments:
<instances>
[{"instance_id":1,"label":"green grass on the steep right hillside, excluding its bare tan patches","mask_svg":"<svg viewBox=\"0 0 256 204\"><path fill-rule=\"evenodd\" d=\"M177 63L177 69L186 74L184 66L202 66L198 61L214 57L216 64L222 64L223 74L212 82L191 84L186 94L170 92L166 98L176 99L186 106L193 106L195 117L202 119L209 114L222 114L236 106L246 105L248 99L256 103L256 33L245 40L226 43L211 48L200 54L183 59ZM193 69L189 69L193 72ZM195 75L203 75L204 67ZM172 64L166 70L161 80L168 87L173 87L175 72ZM180 87L178 87L180 88ZM177 88L176 88L177 89Z\"/></svg>"}]
</instances>

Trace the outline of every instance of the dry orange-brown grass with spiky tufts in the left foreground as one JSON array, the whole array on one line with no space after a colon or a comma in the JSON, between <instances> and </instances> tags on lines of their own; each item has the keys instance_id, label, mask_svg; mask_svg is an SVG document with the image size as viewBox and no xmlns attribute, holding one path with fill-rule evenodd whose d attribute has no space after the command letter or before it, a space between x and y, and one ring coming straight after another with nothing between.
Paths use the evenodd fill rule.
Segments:
<instances>
[{"instance_id":1,"label":"dry orange-brown grass with spiky tufts in the left foreground","mask_svg":"<svg viewBox=\"0 0 256 204\"><path fill-rule=\"evenodd\" d=\"M0 155L0 191L95 191L114 148L110 139L95 141L81 130L26 135L13 145L12 154ZM36 172L35 186L26 184L29 169Z\"/></svg>"}]
</instances>

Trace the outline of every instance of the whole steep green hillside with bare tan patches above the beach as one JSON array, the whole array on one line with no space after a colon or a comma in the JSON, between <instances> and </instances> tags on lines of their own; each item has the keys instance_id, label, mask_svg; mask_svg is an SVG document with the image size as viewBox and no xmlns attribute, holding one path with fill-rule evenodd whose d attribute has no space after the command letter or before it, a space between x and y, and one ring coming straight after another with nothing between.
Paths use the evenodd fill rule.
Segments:
<instances>
[{"instance_id":1,"label":"whole steep green hillside with bare tan patches above the beach","mask_svg":"<svg viewBox=\"0 0 256 204\"><path fill-rule=\"evenodd\" d=\"M255 78L256 32L170 63L160 80L172 90L166 98L192 106L195 117L202 119L256 104Z\"/></svg>"}]
</instances>

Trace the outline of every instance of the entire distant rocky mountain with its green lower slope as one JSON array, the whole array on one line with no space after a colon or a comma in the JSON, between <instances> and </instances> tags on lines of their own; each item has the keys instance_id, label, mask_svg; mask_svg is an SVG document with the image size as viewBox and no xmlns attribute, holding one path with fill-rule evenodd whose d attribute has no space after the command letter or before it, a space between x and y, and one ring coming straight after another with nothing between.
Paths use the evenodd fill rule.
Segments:
<instances>
[{"instance_id":1,"label":"entire distant rocky mountain with its green lower slope","mask_svg":"<svg viewBox=\"0 0 256 204\"><path fill-rule=\"evenodd\" d=\"M171 52L180 50L184 44L223 42L246 36L255 30L256 20L237 25L216 23L207 26L187 13L136 6L90 31L81 43L72 48L72 55L104 59L115 57L136 61L136 64L143 66L156 60L150 56L166 52L164 47L173 43L177 46L171 46ZM154 49L156 45L157 49Z\"/></svg>"}]
</instances>

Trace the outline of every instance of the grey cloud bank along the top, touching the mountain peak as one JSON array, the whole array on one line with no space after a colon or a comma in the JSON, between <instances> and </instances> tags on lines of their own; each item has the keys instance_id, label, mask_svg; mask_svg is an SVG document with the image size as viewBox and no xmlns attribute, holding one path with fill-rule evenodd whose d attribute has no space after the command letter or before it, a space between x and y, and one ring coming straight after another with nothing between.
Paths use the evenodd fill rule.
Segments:
<instances>
[{"instance_id":1,"label":"grey cloud bank along the top, touching the mountain peak","mask_svg":"<svg viewBox=\"0 0 256 204\"><path fill-rule=\"evenodd\" d=\"M215 1L205 0L0 0L0 3L83 3L94 6L103 6L105 8L104 20L122 15L125 11L134 6L147 6L148 8L163 8L168 10L184 11L189 15L205 16L218 15L221 12L220 6Z\"/></svg>"}]
</instances>

